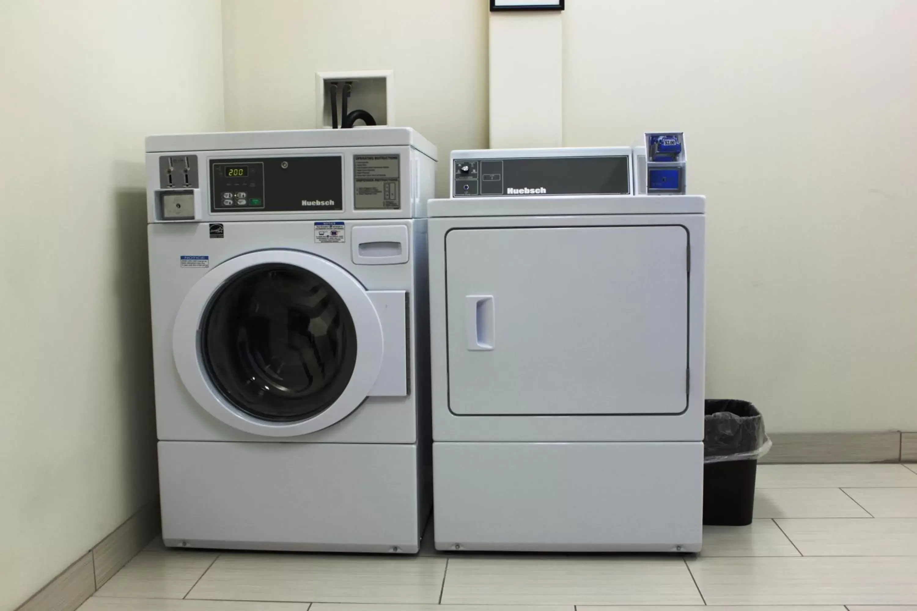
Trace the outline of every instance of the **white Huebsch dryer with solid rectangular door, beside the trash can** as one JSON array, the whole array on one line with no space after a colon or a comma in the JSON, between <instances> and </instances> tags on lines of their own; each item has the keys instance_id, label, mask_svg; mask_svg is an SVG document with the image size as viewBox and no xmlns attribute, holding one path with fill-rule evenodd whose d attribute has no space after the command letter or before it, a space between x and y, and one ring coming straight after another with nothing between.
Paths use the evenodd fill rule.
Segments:
<instances>
[{"instance_id":1,"label":"white Huebsch dryer with solid rectangular door, beside the trash can","mask_svg":"<svg viewBox=\"0 0 917 611\"><path fill-rule=\"evenodd\" d=\"M453 152L428 204L437 549L700 550L704 198L634 194L634 158Z\"/></svg>"}]
</instances>

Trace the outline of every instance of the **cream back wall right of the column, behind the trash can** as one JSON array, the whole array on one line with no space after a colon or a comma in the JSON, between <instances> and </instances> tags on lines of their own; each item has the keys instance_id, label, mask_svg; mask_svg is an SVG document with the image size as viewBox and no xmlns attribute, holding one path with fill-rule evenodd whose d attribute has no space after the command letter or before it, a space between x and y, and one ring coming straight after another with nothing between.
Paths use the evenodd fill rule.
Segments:
<instances>
[{"instance_id":1,"label":"cream back wall right of the column, behind the trash can","mask_svg":"<svg viewBox=\"0 0 917 611\"><path fill-rule=\"evenodd\" d=\"M571 0L568 146L688 133L707 395L917 431L917 3Z\"/></svg>"}]
</instances>

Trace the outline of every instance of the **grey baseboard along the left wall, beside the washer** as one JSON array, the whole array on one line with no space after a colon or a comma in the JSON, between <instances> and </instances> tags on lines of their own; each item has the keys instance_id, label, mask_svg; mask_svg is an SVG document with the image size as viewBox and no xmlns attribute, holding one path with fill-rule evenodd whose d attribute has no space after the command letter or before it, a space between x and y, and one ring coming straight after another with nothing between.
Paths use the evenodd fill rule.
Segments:
<instances>
[{"instance_id":1,"label":"grey baseboard along the left wall, beside the washer","mask_svg":"<svg viewBox=\"0 0 917 611\"><path fill-rule=\"evenodd\" d=\"M160 533L160 499L140 507L17 611L76 611Z\"/></svg>"}]
</instances>

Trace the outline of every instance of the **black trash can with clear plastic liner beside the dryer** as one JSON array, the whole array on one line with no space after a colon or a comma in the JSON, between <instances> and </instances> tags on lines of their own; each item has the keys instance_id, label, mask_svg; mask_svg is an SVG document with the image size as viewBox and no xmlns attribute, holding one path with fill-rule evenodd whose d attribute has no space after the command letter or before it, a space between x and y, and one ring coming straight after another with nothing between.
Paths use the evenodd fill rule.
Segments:
<instances>
[{"instance_id":1,"label":"black trash can with clear plastic liner beside the dryer","mask_svg":"<svg viewBox=\"0 0 917 611\"><path fill-rule=\"evenodd\" d=\"M748 401L707 399L703 419L703 523L751 524L757 459L770 449L761 412Z\"/></svg>"}]
</instances>

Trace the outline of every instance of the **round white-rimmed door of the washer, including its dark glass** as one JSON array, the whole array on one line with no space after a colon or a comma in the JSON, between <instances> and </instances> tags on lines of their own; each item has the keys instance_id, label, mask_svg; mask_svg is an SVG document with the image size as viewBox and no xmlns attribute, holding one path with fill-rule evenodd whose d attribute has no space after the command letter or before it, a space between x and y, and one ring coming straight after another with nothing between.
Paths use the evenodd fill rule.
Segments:
<instances>
[{"instance_id":1,"label":"round white-rimmed door of the washer, including its dark glass","mask_svg":"<svg viewBox=\"0 0 917 611\"><path fill-rule=\"evenodd\" d=\"M382 327L369 294L319 256L270 250L220 264L188 292L172 352L218 420L271 437L320 431L370 394Z\"/></svg>"}]
</instances>

